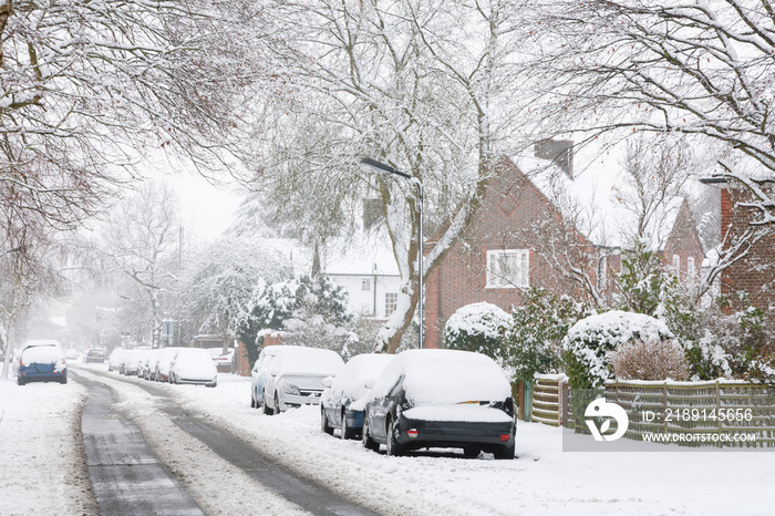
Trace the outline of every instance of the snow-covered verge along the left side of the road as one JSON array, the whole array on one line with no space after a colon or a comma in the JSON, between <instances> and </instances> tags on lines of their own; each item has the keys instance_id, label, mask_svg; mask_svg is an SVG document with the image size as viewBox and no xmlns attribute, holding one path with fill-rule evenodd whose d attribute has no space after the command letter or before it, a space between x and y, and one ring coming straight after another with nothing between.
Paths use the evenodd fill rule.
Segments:
<instances>
[{"instance_id":1,"label":"snow-covered verge along the left side of the road","mask_svg":"<svg viewBox=\"0 0 775 516\"><path fill-rule=\"evenodd\" d=\"M0 380L0 514L96 514L73 382Z\"/></svg>"}]
</instances>

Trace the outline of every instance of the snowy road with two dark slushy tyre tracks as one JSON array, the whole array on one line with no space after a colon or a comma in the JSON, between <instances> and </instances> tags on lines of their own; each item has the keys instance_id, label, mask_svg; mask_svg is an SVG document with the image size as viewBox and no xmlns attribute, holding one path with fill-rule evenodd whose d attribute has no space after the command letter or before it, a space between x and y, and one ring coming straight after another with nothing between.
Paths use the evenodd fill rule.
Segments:
<instances>
[{"instance_id":1,"label":"snowy road with two dark slushy tyre tracks","mask_svg":"<svg viewBox=\"0 0 775 516\"><path fill-rule=\"evenodd\" d=\"M71 372L85 384L93 398L83 412L83 434L86 442L90 476L102 514L202 514L179 484L156 461L135 426L110 409L112 399L101 381L114 382L112 374L92 371ZM90 378L90 379L87 379ZM127 383L131 379L125 380ZM200 414L182 410L169 399L165 386L136 382L158 409L158 417L169 417L179 429L200 443L203 455L215 453L232 467L285 498L299 509L319 516L374 515L341 495L322 488L309 478L292 472L264 456L250 444L202 420ZM115 384L114 384L115 389ZM105 399L107 398L107 401ZM120 410L121 412L125 412ZM131 417L127 413L127 417ZM146 430L147 433L147 430ZM164 451L157 451L164 455ZM195 461L205 465L206 457ZM249 489L248 489L249 491ZM230 498L230 489L221 489L220 498ZM214 505L210 500L210 505ZM220 499L215 505L228 504Z\"/></svg>"}]
</instances>

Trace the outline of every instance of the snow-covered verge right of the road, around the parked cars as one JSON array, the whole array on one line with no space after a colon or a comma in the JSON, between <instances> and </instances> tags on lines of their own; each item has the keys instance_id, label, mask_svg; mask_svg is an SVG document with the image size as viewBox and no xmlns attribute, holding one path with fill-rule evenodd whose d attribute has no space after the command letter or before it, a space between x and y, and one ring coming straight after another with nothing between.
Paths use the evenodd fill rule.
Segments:
<instances>
[{"instance_id":1,"label":"snow-covered verge right of the road, around the parked cars","mask_svg":"<svg viewBox=\"0 0 775 516\"><path fill-rule=\"evenodd\" d=\"M316 406L273 416L250 409L249 384L221 374L217 389L167 388L182 406L385 514L737 514L741 507L772 514L775 507L775 456L766 452L569 453L559 430L520 422L515 461L447 451L388 457L322 433Z\"/></svg>"}]
</instances>

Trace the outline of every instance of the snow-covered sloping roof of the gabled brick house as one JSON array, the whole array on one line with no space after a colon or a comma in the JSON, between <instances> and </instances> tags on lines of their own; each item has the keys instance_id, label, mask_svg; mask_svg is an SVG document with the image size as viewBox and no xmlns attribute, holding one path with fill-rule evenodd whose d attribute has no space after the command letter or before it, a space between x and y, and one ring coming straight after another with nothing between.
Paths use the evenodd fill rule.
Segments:
<instances>
[{"instance_id":1,"label":"snow-covered sloping roof of the gabled brick house","mask_svg":"<svg viewBox=\"0 0 775 516\"><path fill-rule=\"evenodd\" d=\"M622 172L611 167L586 167L572 178L550 159L517 156L514 162L562 216L593 244L631 247L638 218L619 196L627 185ZM663 250L678 217L683 197L660 205L647 223L647 244Z\"/></svg>"}]
</instances>

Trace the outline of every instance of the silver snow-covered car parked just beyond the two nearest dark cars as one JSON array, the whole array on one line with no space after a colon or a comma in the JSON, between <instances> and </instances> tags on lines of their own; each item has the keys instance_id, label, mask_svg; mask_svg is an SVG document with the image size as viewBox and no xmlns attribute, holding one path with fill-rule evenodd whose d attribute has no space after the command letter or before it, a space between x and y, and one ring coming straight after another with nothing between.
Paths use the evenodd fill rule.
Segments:
<instances>
[{"instance_id":1,"label":"silver snow-covered car parked just beyond the two nearest dark cars","mask_svg":"<svg viewBox=\"0 0 775 516\"><path fill-rule=\"evenodd\" d=\"M334 376L344 367L331 350L283 345L271 363L264 383L264 412L275 414L290 407L320 403L323 379Z\"/></svg>"}]
</instances>

